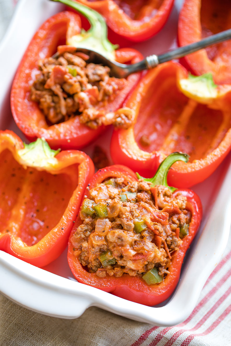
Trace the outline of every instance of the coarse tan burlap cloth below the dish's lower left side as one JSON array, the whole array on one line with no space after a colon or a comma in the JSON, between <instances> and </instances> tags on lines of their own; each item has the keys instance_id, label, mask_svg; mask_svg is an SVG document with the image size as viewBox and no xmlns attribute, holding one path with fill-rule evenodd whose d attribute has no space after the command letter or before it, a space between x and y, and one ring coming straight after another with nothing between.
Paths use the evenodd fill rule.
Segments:
<instances>
[{"instance_id":1,"label":"coarse tan burlap cloth below the dish's lower left side","mask_svg":"<svg viewBox=\"0 0 231 346\"><path fill-rule=\"evenodd\" d=\"M95 307L75 320L48 317L0 296L1 346L131 345L148 328Z\"/></svg>"}]
</instances>

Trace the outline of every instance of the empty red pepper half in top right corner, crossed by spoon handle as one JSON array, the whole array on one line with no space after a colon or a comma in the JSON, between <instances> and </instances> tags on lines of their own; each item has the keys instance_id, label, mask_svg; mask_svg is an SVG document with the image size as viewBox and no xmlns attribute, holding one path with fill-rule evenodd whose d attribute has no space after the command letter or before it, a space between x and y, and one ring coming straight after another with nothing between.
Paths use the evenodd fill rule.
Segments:
<instances>
[{"instance_id":1,"label":"empty red pepper half in top right corner, crossed by spoon handle","mask_svg":"<svg viewBox=\"0 0 231 346\"><path fill-rule=\"evenodd\" d=\"M180 46L231 28L230 1L185 0L178 21ZM187 55L183 63L197 75L212 72L217 84L231 83L231 40Z\"/></svg>"}]
</instances>

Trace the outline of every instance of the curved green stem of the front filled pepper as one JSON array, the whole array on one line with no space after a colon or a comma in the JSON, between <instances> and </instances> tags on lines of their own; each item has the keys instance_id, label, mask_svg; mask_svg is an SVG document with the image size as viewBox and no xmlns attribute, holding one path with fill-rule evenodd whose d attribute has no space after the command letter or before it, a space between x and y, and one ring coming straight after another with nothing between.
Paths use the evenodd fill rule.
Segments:
<instances>
[{"instance_id":1,"label":"curved green stem of the front filled pepper","mask_svg":"<svg viewBox=\"0 0 231 346\"><path fill-rule=\"evenodd\" d=\"M178 152L171 153L165 158L165 160L161 162L156 174L152 178L143 178L139 173L136 173L136 175L138 179L144 179L145 181L150 181L152 183L152 186L155 186L155 185L167 186L171 192L174 192L176 188L174 188L173 186L168 186L168 182L167 182L168 171L170 170L171 166L176 161L188 162L188 160L189 160L188 154L178 153Z\"/></svg>"}]
</instances>

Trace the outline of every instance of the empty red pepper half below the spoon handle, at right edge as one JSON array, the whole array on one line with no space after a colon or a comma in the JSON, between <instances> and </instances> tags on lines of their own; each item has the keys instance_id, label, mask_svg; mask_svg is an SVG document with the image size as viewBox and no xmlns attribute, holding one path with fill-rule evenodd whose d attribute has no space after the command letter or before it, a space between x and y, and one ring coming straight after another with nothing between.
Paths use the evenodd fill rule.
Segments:
<instances>
[{"instance_id":1,"label":"empty red pepper half below the spoon handle, at right edge","mask_svg":"<svg viewBox=\"0 0 231 346\"><path fill-rule=\"evenodd\" d=\"M190 161L172 166L169 184L188 188L202 182L231 149L230 89L230 85L216 86L210 74L188 76L174 62L149 71L126 102L136 112L135 125L113 132L114 163L150 177L168 154L185 152ZM142 136L149 142L143 143Z\"/></svg>"}]
</instances>

